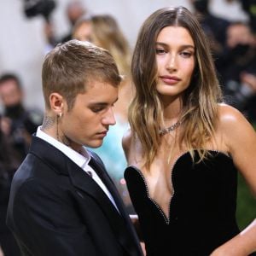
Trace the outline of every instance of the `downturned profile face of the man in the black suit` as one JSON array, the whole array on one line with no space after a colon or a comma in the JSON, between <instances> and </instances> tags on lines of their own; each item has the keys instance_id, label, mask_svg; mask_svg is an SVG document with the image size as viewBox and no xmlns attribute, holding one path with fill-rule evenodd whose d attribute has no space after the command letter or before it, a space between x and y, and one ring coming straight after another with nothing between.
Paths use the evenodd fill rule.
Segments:
<instances>
[{"instance_id":1,"label":"downturned profile face of the man in the black suit","mask_svg":"<svg viewBox=\"0 0 256 256\"><path fill-rule=\"evenodd\" d=\"M81 145L97 148L102 145L109 125L115 124L113 103L118 99L118 87L104 82L92 82L87 90L76 96L73 108L64 112L59 129L70 147L79 151Z\"/></svg>"}]
</instances>

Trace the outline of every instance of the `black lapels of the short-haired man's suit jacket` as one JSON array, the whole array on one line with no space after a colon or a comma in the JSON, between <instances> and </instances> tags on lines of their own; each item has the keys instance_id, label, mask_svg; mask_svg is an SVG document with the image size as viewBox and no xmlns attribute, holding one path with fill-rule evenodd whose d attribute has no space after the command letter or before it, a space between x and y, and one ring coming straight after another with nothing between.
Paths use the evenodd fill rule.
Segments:
<instances>
[{"instance_id":1,"label":"black lapels of the short-haired man's suit jacket","mask_svg":"<svg viewBox=\"0 0 256 256\"><path fill-rule=\"evenodd\" d=\"M79 168L79 166L73 166L72 164L71 166L68 165L68 172L71 174L70 177L73 185L85 193L90 194L90 196L98 202L98 206L102 208L102 212L105 212L109 224L112 226L113 233L120 245L124 247L127 255L137 255L138 247L134 246L134 243L137 242L136 235L132 232L131 225L129 224L130 220L127 219L127 214L125 213L125 209L119 199L118 192L115 190L108 174L102 170L102 167L97 164L94 158L91 158L90 166L93 167L97 175L108 188L108 191L112 194L113 200L119 208L120 213L116 210L113 203L108 199L108 196L103 192L98 184L81 168Z\"/></svg>"}]
</instances>

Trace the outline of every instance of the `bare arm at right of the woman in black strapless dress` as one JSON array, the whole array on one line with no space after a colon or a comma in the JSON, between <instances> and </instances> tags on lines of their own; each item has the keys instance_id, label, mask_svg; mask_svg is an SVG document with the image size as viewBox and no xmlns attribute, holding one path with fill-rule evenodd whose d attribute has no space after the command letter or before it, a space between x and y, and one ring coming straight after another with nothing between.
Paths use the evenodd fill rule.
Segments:
<instances>
[{"instance_id":1,"label":"bare arm at right of the woman in black strapless dress","mask_svg":"<svg viewBox=\"0 0 256 256\"><path fill-rule=\"evenodd\" d=\"M219 122L234 164L256 195L256 132L253 126L229 106L220 108ZM247 256L253 252L256 252L256 219L240 234L214 250L211 256Z\"/></svg>"}]
</instances>

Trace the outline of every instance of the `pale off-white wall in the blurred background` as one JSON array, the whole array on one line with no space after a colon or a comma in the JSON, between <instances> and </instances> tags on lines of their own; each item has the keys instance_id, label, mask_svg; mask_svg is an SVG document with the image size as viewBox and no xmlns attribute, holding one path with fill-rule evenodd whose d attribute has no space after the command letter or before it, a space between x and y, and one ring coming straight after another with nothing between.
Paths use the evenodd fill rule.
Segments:
<instances>
[{"instance_id":1,"label":"pale off-white wall in the blurred background","mask_svg":"<svg viewBox=\"0 0 256 256\"><path fill-rule=\"evenodd\" d=\"M48 2L44 0L42 2ZM43 108L41 93L41 64L47 44L44 34L43 15L27 17L25 8L28 3L38 0L9 0L0 2L0 73L14 72L20 76L26 89L26 105ZM70 31L67 17L69 0L55 0L55 8L50 13L56 37L61 38ZM191 8L188 0L84 0L84 8L91 14L110 14L119 22L119 26L129 40L131 47L137 38L139 26L154 10L168 5L183 5ZM246 19L240 3L226 3L224 0L212 0L213 13L230 20ZM36 12L34 12L36 13Z\"/></svg>"}]
</instances>

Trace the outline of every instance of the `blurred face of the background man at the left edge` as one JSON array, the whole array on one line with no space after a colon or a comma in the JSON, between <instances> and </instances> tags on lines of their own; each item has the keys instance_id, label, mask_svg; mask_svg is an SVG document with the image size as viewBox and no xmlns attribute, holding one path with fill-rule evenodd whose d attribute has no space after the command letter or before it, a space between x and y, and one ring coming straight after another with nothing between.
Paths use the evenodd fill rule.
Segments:
<instances>
[{"instance_id":1,"label":"blurred face of the background man at the left edge","mask_svg":"<svg viewBox=\"0 0 256 256\"><path fill-rule=\"evenodd\" d=\"M0 97L4 107L12 107L22 101L22 92L15 80L10 79L1 84Z\"/></svg>"}]
</instances>

